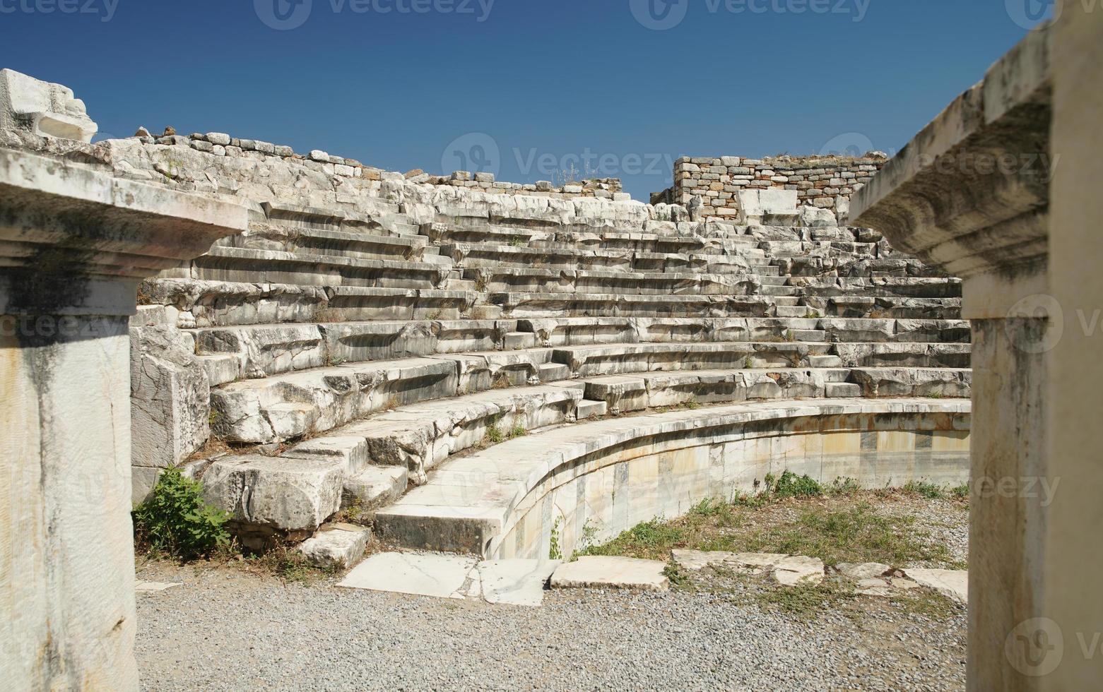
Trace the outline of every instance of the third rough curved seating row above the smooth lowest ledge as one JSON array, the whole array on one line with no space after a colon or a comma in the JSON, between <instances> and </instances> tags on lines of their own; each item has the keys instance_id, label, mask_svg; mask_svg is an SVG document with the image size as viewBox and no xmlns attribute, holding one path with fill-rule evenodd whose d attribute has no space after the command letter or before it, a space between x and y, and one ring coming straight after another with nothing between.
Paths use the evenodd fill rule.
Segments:
<instances>
[{"instance_id":1,"label":"third rough curved seating row above the smooth lowest ledge","mask_svg":"<svg viewBox=\"0 0 1103 692\"><path fill-rule=\"evenodd\" d=\"M212 386L328 365L636 343L967 343L961 321L847 318L563 318L283 323L190 332Z\"/></svg>"}]
</instances>

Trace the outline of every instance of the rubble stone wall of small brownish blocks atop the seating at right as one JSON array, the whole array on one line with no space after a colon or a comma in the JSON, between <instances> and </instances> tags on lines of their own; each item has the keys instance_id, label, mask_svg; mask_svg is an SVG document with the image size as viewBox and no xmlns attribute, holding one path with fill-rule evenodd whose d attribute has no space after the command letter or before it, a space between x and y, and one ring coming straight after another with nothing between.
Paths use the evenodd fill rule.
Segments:
<instances>
[{"instance_id":1,"label":"rubble stone wall of small brownish blocks atop the seating at right","mask_svg":"<svg viewBox=\"0 0 1103 692\"><path fill-rule=\"evenodd\" d=\"M653 201L688 205L700 197L703 214L738 217L739 193L747 190L796 191L801 205L833 209L845 216L850 195L872 180L887 158L869 152L853 156L683 156L674 164L674 186L667 198ZM664 193L660 193L663 195Z\"/></svg>"}]
</instances>

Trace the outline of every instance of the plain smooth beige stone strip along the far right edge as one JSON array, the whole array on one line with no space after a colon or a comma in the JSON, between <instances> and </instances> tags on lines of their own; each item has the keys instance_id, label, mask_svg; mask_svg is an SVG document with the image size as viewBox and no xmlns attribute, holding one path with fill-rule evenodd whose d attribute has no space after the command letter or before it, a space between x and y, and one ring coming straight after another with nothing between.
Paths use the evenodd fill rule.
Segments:
<instances>
[{"instance_id":1,"label":"plain smooth beige stone strip along the far right edge","mask_svg":"<svg viewBox=\"0 0 1103 692\"><path fill-rule=\"evenodd\" d=\"M1045 530L1042 615L1053 631L1036 660L1042 689L1103 688L1103 6L1065 0L1054 25L1050 292L1046 439L1061 485ZM1060 641L1057 637L1060 636ZM1040 642L1039 642L1040 644ZM1058 648L1058 645L1061 645ZM1093 646L1094 645L1094 646Z\"/></svg>"}]
</instances>

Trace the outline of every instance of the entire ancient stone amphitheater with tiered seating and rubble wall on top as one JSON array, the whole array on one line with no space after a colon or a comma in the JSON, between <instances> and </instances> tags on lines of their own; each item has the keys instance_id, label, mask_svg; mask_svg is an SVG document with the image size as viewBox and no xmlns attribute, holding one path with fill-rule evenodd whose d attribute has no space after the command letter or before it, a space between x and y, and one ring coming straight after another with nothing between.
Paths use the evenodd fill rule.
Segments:
<instances>
[{"instance_id":1,"label":"entire ancient stone amphitheater with tiered seating and rubble wall on top","mask_svg":"<svg viewBox=\"0 0 1103 692\"><path fill-rule=\"evenodd\" d=\"M247 545L344 507L398 547L537 558L786 469L967 477L960 282L836 218L879 160L683 159L683 206L214 132L83 147L250 209L131 328L135 501L183 465Z\"/></svg>"}]
</instances>

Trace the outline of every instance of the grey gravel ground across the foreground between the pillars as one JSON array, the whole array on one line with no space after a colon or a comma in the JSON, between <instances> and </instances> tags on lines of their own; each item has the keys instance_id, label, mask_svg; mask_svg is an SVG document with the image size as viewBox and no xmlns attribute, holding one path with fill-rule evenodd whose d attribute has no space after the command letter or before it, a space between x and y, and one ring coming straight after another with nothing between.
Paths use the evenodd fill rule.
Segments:
<instances>
[{"instance_id":1,"label":"grey gravel ground across the foreground between the pillars","mask_svg":"<svg viewBox=\"0 0 1103 692\"><path fill-rule=\"evenodd\" d=\"M154 563L138 597L146 690L961 690L964 612L882 599L812 620L725 593L549 592L542 608L283 584Z\"/></svg>"}]
</instances>

